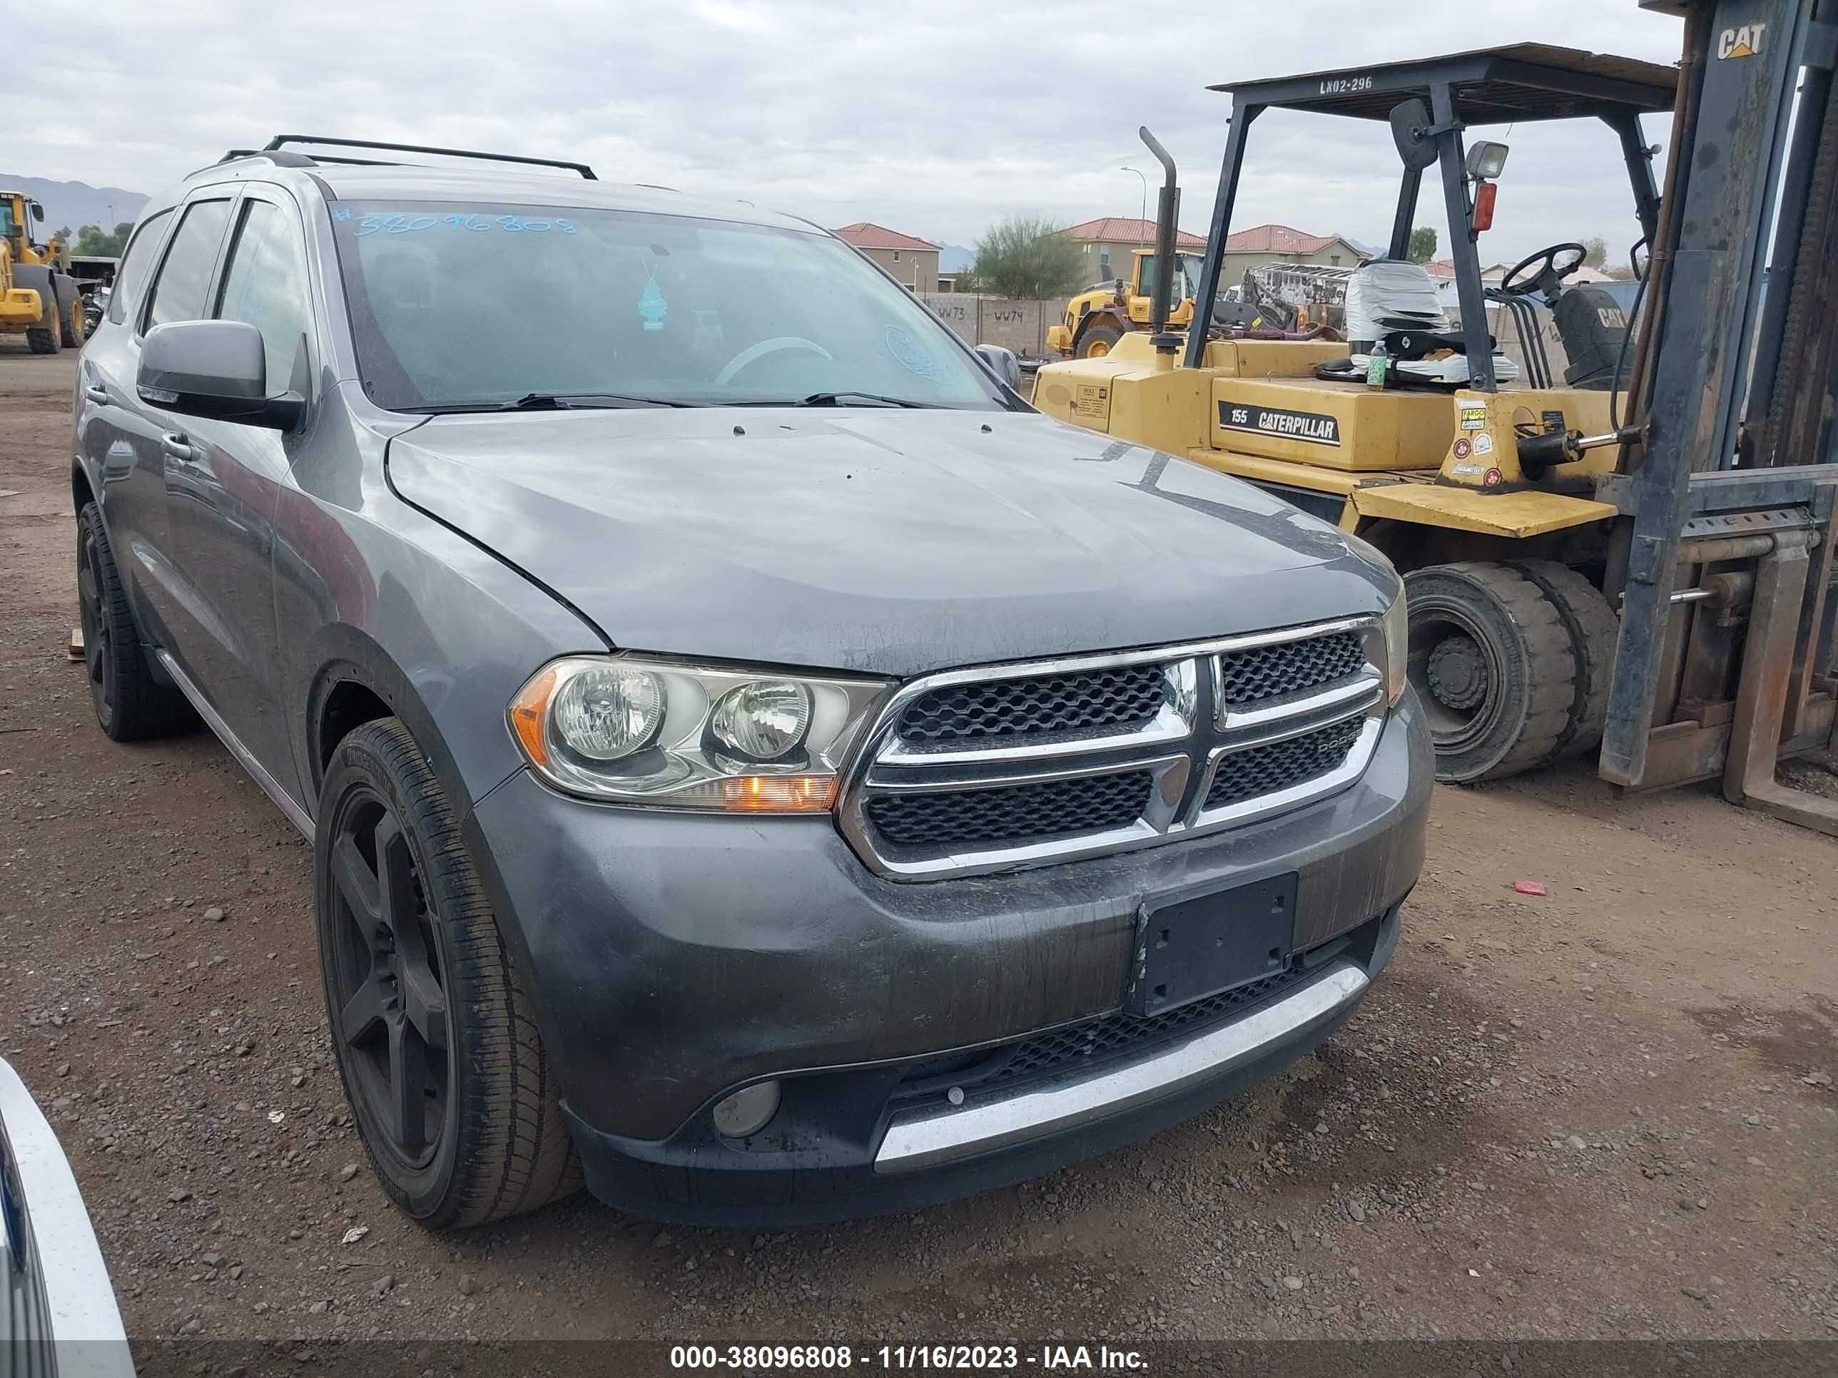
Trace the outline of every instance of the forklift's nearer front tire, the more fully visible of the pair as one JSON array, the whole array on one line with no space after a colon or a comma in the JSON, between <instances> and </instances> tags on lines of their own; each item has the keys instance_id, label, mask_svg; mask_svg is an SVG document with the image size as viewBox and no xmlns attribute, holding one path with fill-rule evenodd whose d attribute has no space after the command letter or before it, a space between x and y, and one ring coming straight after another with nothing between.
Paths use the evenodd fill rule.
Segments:
<instances>
[{"instance_id":1,"label":"forklift's nearer front tire, the more fully visible of the pair","mask_svg":"<svg viewBox=\"0 0 1838 1378\"><path fill-rule=\"evenodd\" d=\"M1410 682L1435 742L1435 777L1470 785L1551 761L1577 702L1570 632L1546 592L1507 564L1404 575Z\"/></svg>"}]
</instances>

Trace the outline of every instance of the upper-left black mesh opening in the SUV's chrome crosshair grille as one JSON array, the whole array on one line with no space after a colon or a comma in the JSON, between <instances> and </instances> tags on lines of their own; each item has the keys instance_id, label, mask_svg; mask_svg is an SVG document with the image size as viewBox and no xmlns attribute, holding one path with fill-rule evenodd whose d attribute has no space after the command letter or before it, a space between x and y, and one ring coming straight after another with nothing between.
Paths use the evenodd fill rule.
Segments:
<instances>
[{"instance_id":1,"label":"upper-left black mesh opening in the SUV's chrome crosshair grille","mask_svg":"<svg viewBox=\"0 0 1838 1378\"><path fill-rule=\"evenodd\" d=\"M947 748L985 737L1134 731L1154 722L1165 698L1160 665L994 680L934 689L901 715L906 746Z\"/></svg>"}]
</instances>

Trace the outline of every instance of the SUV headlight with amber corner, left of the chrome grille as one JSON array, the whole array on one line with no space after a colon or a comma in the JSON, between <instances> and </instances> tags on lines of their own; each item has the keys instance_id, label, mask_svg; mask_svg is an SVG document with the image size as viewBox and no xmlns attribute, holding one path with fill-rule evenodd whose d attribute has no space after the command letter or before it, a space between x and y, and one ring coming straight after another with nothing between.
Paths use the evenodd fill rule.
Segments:
<instances>
[{"instance_id":1,"label":"SUV headlight with amber corner, left of the chrome grille","mask_svg":"<svg viewBox=\"0 0 1838 1378\"><path fill-rule=\"evenodd\" d=\"M669 808L809 814L886 680L814 680L627 656L544 665L509 707L511 735L550 785Z\"/></svg>"}]
</instances>

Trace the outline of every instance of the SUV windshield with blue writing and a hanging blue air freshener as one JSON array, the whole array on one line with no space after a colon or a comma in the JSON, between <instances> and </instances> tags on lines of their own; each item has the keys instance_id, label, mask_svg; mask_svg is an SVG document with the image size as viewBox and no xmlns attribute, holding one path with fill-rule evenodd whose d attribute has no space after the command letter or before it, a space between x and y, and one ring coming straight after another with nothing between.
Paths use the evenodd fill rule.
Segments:
<instances>
[{"instance_id":1,"label":"SUV windshield with blue writing and a hanging blue air freshener","mask_svg":"<svg viewBox=\"0 0 1838 1378\"><path fill-rule=\"evenodd\" d=\"M919 301L827 235L430 202L335 204L333 226L364 386L391 410L1007 404Z\"/></svg>"}]
</instances>

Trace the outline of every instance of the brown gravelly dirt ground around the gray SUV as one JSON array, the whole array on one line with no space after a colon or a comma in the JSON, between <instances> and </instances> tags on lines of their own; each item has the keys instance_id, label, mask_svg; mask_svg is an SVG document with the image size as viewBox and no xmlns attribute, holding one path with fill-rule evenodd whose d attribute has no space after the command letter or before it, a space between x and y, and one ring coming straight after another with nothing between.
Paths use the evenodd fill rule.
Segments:
<instances>
[{"instance_id":1,"label":"brown gravelly dirt ground around the gray SUV","mask_svg":"<svg viewBox=\"0 0 1838 1378\"><path fill-rule=\"evenodd\" d=\"M1584 768L1441 790L1358 1018L1145 1145L796 1233L421 1231L357 1167L301 840L64 660L74 367L0 345L0 1049L138 1345L1838 1332L1838 843Z\"/></svg>"}]
</instances>

